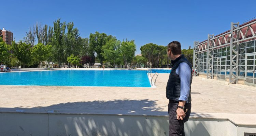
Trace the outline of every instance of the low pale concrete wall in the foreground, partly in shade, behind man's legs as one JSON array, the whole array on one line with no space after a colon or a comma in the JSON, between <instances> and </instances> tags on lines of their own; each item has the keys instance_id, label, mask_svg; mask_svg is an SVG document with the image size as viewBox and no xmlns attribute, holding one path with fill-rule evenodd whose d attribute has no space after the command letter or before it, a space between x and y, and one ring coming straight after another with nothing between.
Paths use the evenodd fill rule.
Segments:
<instances>
[{"instance_id":1,"label":"low pale concrete wall in the foreground, partly in shade, behind man's legs","mask_svg":"<svg viewBox=\"0 0 256 136\"><path fill-rule=\"evenodd\" d=\"M168 116L0 113L0 135L18 136L168 136ZM243 136L256 125L235 125L228 119L193 118L187 136Z\"/></svg>"}]
</instances>

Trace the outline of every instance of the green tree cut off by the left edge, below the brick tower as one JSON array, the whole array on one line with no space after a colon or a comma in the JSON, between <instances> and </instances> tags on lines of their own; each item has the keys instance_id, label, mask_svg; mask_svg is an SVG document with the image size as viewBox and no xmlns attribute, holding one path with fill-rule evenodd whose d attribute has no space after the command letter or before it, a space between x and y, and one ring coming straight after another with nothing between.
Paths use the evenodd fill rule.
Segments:
<instances>
[{"instance_id":1,"label":"green tree cut off by the left edge, below the brick tower","mask_svg":"<svg viewBox=\"0 0 256 136\"><path fill-rule=\"evenodd\" d=\"M0 62L1 63L8 63L10 61L10 45L6 44L2 37L0 37Z\"/></svg>"}]
</instances>

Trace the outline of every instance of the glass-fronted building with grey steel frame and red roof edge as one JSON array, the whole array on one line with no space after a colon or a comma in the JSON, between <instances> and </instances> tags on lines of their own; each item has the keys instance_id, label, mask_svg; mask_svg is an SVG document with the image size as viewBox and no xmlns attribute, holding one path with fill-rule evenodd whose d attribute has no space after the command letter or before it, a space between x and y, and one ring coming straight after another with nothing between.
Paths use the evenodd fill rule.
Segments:
<instances>
[{"instance_id":1,"label":"glass-fronted building with grey steel frame and red roof edge","mask_svg":"<svg viewBox=\"0 0 256 136\"><path fill-rule=\"evenodd\" d=\"M194 76L256 86L256 19L194 42Z\"/></svg>"}]
</instances>

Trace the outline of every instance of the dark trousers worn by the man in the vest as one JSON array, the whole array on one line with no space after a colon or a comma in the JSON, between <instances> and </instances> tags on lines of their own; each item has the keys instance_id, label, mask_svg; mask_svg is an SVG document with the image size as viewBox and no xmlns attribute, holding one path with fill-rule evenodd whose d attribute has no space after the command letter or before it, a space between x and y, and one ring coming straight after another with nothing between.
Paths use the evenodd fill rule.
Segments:
<instances>
[{"instance_id":1,"label":"dark trousers worn by the man in the vest","mask_svg":"<svg viewBox=\"0 0 256 136\"><path fill-rule=\"evenodd\" d=\"M169 101L168 113L169 113L169 136L185 136L184 123L188 121L191 113L191 103L186 103L185 110L188 109L185 118L183 120L177 120L176 110L179 102Z\"/></svg>"}]
</instances>

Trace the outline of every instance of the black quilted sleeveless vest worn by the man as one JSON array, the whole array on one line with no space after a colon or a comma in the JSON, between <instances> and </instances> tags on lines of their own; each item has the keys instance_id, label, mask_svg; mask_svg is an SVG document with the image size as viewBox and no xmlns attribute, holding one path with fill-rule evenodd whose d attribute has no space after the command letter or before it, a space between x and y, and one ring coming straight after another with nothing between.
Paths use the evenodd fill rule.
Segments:
<instances>
[{"instance_id":1,"label":"black quilted sleeveless vest worn by the man","mask_svg":"<svg viewBox=\"0 0 256 136\"><path fill-rule=\"evenodd\" d=\"M191 83L193 78L193 70L192 70L191 63L187 60L187 58L185 58L184 54L177 57L175 60L171 61L172 70L169 75L169 80L166 86L166 98L172 101L179 101L179 98L181 96L181 80L180 80L179 74L176 74L176 69L183 62L187 63L191 69L190 91L188 96L188 103L190 103L191 102L190 92L191 92Z\"/></svg>"}]
</instances>

